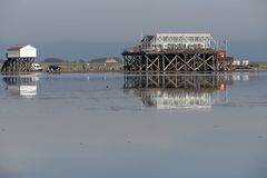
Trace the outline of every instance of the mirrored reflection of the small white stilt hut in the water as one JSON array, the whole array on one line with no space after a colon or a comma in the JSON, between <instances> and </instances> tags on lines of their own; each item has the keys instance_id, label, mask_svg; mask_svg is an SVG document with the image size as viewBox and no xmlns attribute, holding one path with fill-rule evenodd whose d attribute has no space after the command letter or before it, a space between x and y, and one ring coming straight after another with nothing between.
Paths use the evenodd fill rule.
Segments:
<instances>
[{"instance_id":1,"label":"mirrored reflection of the small white stilt hut in the water","mask_svg":"<svg viewBox=\"0 0 267 178\"><path fill-rule=\"evenodd\" d=\"M36 76L4 76L2 79L12 95L26 98L34 98L37 95Z\"/></svg>"}]
</instances>

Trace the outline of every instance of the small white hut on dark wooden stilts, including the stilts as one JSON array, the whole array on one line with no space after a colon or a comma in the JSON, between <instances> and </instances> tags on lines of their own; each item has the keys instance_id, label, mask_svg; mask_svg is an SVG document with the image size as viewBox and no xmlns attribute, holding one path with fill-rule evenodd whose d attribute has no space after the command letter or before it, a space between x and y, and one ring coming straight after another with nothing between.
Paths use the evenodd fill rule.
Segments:
<instances>
[{"instance_id":1,"label":"small white hut on dark wooden stilts, including the stilts","mask_svg":"<svg viewBox=\"0 0 267 178\"><path fill-rule=\"evenodd\" d=\"M10 47L7 52L7 60L4 61L2 72L24 72L31 70L31 63L37 58L37 50L34 47L14 46Z\"/></svg>"}]
</instances>

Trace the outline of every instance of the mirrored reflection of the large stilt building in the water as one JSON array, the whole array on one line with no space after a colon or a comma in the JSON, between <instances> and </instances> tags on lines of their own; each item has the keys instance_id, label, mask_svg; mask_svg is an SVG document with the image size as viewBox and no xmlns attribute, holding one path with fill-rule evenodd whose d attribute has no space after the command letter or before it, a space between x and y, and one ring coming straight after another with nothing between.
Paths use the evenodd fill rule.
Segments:
<instances>
[{"instance_id":1,"label":"mirrored reflection of the large stilt building in the water","mask_svg":"<svg viewBox=\"0 0 267 178\"><path fill-rule=\"evenodd\" d=\"M225 75L126 75L125 91L134 92L147 107L159 109L206 108L228 101Z\"/></svg>"}]
</instances>

